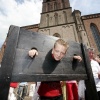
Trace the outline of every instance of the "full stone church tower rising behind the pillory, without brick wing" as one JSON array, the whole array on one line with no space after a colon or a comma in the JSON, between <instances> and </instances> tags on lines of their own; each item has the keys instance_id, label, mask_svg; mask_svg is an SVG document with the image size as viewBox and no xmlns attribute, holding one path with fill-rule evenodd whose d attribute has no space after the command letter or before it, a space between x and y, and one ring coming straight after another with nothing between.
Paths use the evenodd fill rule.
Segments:
<instances>
[{"instance_id":1,"label":"full stone church tower rising behind the pillory, without brick wing","mask_svg":"<svg viewBox=\"0 0 100 100\"><path fill-rule=\"evenodd\" d=\"M81 21L81 15L78 13ZM39 25L39 32L63 38L65 41L71 40L75 42L82 42L89 46L85 29L81 21L81 26L84 29L80 32L78 27L80 23L76 21L77 13L72 13L69 0L43 0L42 13ZM83 42L81 38L86 40Z\"/></svg>"}]
</instances>

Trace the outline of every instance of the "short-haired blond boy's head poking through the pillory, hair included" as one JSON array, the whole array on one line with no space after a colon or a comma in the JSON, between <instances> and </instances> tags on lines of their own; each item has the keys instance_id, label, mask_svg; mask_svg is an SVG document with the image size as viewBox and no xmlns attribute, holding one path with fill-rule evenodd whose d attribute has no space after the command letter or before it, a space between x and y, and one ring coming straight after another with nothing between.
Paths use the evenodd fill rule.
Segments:
<instances>
[{"instance_id":1,"label":"short-haired blond boy's head poking through the pillory, hair included","mask_svg":"<svg viewBox=\"0 0 100 100\"><path fill-rule=\"evenodd\" d=\"M54 47L52 49L52 54L54 56L54 59L56 61L61 60L65 56L67 49L68 49L67 42L65 42L62 39L58 39L55 42Z\"/></svg>"}]
</instances>

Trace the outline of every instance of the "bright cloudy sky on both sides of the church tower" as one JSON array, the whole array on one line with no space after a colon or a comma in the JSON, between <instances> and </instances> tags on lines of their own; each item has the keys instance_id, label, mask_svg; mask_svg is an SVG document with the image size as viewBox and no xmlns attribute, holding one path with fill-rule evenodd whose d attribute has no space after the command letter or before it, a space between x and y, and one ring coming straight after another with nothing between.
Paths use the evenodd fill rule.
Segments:
<instances>
[{"instance_id":1,"label":"bright cloudy sky on both sides of the church tower","mask_svg":"<svg viewBox=\"0 0 100 100\"><path fill-rule=\"evenodd\" d=\"M40 22L43 0L0 0L0 47L10 25L27 26ZM72 10L82 15L100 13L100 0L70 0Z\"/></svg>"}]
</instances>

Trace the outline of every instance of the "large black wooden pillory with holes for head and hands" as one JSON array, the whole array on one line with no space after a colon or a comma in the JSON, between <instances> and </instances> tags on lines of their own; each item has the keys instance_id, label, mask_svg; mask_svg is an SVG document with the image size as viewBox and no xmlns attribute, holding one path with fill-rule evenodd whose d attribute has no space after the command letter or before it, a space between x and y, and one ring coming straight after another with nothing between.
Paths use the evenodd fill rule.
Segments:
<instances>
[{"instance_id":1,"label":"large black wooden pillory with holes for head and hands","mask_svg":"<svg viewBox=\"0 0 100 100\"><path fill-rule=\"evenodd\" d=\"M50 60L50 54L58 38L17 26L10 26L8 35L0 68L0 100L7 100L10 82L66 80L85 80L89 100L98 100L87 49L82 43L68 42L66 56L55 63ZM32 47L39 52L34 59L28 56ZM73 61L74 54L80 55L83 61Z\"/></svg>"}]
</instances>

